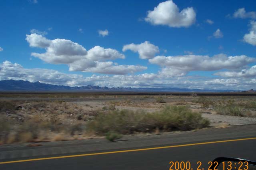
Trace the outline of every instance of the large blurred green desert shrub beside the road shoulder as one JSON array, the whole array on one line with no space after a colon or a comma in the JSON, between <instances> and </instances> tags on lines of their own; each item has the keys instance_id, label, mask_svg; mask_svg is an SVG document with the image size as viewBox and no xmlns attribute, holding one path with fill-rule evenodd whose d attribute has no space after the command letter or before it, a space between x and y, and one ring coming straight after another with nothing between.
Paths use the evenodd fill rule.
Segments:
<instances>
[{"instance_id":1,"label":"large blurred green desert shrub beside the road shoulder","mask_svg":"<svg viewBox=\"0 0 256 170\"><path fill-rule=\"evenodd\" d=\"M87 129L96 134L117 132L154 132L156 128L164 131L191 130L209 126L209 121L200 113L192 112L186 106L167 106L160 112L147 113L142 110L109 110L101 112L87 123Z\"/></svg>"}]
</instances>

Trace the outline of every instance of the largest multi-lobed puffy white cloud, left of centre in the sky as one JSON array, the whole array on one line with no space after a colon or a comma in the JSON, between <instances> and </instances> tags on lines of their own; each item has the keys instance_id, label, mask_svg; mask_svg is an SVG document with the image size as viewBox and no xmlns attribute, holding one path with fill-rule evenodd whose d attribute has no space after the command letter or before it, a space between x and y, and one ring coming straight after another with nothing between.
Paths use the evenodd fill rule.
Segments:
<instances>
[{"instance_id":1,"label":"largest multi-lobed puffy white cloud, left of centre in the sky","mask_svg":"<svg viewBox=\"0 0 256 170\"><path fill-rule=\"evenodd\" d=\"M145 66L118 65L108 60L124 59L112 48L94 46L86 50L82 45L66 39L48 40L42 35L26 35L31 47L45 48L45 53L32 52L32 56L51 64L67 64L70 71L96 72L102 74L133 74L146 70Z\"/></svg>"}]
</instances>

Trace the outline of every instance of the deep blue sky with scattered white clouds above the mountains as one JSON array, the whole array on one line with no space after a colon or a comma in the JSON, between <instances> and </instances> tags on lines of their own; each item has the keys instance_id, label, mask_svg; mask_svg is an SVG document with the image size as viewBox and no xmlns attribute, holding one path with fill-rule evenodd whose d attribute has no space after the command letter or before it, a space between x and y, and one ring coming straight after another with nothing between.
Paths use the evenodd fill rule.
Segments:
<instances>
[{"instance_id":1,"label":"deep blue sky with scattered white clouds above the mountains","mask_svg":"<svg viewBox=\"0 0 256 170\"><path fill-rule=\"evenodd\" d=\"M2 0L0 80L256 89L254 0Z\"/></svg>"}]
</instances>

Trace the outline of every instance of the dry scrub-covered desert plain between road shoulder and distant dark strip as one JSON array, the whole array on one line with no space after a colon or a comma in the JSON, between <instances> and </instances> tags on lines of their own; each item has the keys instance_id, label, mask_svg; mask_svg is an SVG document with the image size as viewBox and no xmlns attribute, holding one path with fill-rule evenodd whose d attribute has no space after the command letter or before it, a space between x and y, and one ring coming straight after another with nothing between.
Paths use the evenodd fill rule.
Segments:
<instances>
[{"instance_id":1,"label":"dry scrub-covered desert plain between road shoulder and distant dark strip","mask_svg":"<svg viewBox=\"0 0 256 170\"><path fill-rule=\"evenodd\" d=\"M253 97L195 94L97 94L62 100L0 100L0 144L101 136L115 141L127 134L159 134L236 124L230 122L230 118L222 118L222 115L239 116L239 123L241 117L247 117L246 122L254 123L256 100Z\"/></svg>"}]
</instances>

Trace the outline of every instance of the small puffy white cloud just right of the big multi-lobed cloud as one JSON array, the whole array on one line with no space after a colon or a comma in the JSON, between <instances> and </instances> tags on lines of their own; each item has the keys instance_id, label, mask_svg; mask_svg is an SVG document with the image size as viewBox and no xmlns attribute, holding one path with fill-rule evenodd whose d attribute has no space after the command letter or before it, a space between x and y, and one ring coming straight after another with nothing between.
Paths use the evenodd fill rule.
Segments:
<instances>
[{"instance_id":1,"label":"small puffy white cloud just right of the big multi-lobed cloud","mask_svg":"<svg viewBox=\"0 0 256 170\"><path fill-rule=\"evenodd\" d=\"M141 44L127 44L123 46L123 52L127 50L132 50L133 52L138 52L140 58L149 59L153 58L156 53L159 52L158 46L151 44L148 41L145 41Z\"/></svg>"}]
</instances>

